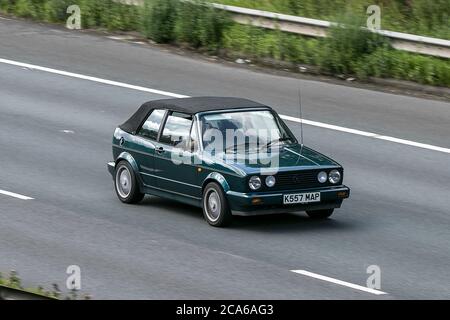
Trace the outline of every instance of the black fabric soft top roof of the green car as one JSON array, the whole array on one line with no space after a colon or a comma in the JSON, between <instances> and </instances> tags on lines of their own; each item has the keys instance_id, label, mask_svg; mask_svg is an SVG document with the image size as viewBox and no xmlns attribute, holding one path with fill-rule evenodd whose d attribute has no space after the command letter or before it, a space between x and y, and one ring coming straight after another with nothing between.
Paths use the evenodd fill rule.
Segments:
<instances>
[{"instance_id":1,"label":"black fabric soft top roof of the green car","mask_svg":"<svg viewBox=\"0 0 450 320\"><path fill-rule=\"evenodd\" d=\"M204 111L261 107L269 108L259 102L242 98L194 97L153 100L144 103L130 119L119 127L126 132L135 133L154 109L168 109L193 115Z\"/></svg>"}]
</instances>

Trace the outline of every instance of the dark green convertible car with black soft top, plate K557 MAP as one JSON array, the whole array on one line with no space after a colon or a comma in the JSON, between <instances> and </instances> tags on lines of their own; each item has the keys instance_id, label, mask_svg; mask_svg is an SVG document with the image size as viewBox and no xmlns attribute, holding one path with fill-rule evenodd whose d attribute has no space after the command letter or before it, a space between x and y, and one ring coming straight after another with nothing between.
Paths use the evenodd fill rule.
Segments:
<instances>
[{"instance_id":1,"label":"dark green convertible car with black soft top, plate K557 MAP","mask_svg":"<svg viewBox=\"0 0 450 320\"><path fill-rule=\"evenodd\" d=\"M112 151L108 170L122 202L166 197L203 208L213 226L294 211L325 219L350 195L342 166L299 143L272 108L246 99L147 102L115 130Z\"/></svg>"}]
</instances>

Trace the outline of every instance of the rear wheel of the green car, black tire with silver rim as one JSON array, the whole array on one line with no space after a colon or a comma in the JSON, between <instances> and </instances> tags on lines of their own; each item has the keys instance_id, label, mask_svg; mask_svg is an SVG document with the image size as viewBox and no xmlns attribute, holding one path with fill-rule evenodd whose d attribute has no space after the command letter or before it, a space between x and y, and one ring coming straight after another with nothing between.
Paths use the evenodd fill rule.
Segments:
<instances>
[{"instance_id":1,"label":"rear wheel of the green car, black tire with silver rim","mask_svg":"<svg viewBox=\"0 0 450 320\"><path fill-rule=\"evenodd\" d=\"M122 181L120 180L121 178ZM138 203L145 196L145 194L140 192L136 174L127 161L120 161L116 165L114 189L117 197L123 203Z\"/></svg>"}]
</instances>

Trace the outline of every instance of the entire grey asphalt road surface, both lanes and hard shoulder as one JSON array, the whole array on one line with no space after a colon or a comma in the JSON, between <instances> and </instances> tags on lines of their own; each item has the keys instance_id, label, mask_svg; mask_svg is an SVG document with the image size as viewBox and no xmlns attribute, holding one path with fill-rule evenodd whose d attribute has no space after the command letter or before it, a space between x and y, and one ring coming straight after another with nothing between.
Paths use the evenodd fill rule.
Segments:
<instances>
[{"instance_id":1,"label":"entire grey asphalt road surface, both lanes and hard shoulder","mask_svg":"<svg viewBox=\"0 0 450 320\"><path fill-rule=\"evenodd\" d=\"M0 19L0 58L184 95L255 99L284 115L450 147L450 104L194 60L157 47ZM352 196L328 221L302 213L209 227L156 197L121 204L105 163L111 137L161 95L0 63L0 270L125 299L450 298L450 155L305 126L307 145L343 164ZM288 122L299 136L299 125ZM365 286L373 295L291 272Z\"/></svg>"}]
</instances>

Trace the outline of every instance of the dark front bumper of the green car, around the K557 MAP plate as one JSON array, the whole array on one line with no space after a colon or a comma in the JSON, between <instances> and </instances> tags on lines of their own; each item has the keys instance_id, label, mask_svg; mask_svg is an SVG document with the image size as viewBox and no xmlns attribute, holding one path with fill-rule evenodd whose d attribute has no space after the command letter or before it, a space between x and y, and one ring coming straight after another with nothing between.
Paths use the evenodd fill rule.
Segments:
<instances>
[{"instance_id":1,"label":"dark front bumper of the green car, around the K557 MAP plate","mask_svg":"<svg viewBox=\"0 0 450 320\"><path fill-rule=\"evenodd\" d=\"M320 202L283 204L284 194L304 192L320 192ZM251 216L340 208L342 201L350 196L350 188L342 185L323 189L301 189L279 192L239 193L228 191L226 194L233 215Z\"/></svg>"}]
</instances>

